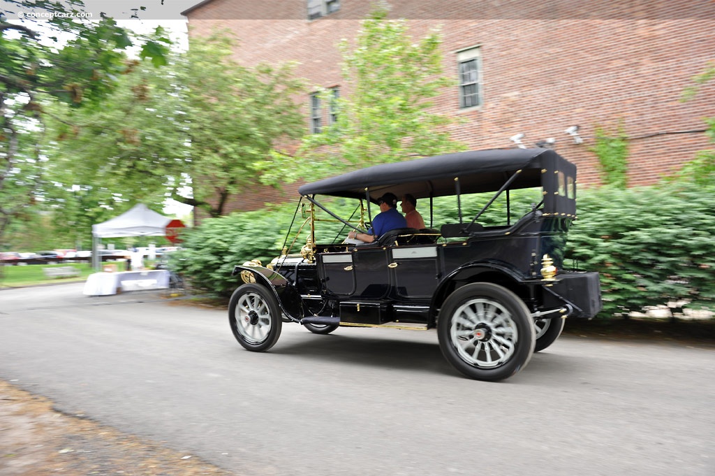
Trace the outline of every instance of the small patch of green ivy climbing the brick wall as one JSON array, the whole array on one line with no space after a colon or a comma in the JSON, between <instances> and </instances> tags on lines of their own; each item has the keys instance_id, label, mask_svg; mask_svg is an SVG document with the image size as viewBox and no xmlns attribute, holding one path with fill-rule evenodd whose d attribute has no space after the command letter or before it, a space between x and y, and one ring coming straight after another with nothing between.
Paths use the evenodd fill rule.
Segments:
<instances>
[{"instance_id":1,"label":"small patch of green ivy climbing the brick wall","mask_svg":"<svg viewBox=\"0 0 715 476\"><path fill-rule=\"evenodd\" d=\"M621 189L628 186L628 136L622 122L615 134L596 126L596 145L588 150L598 157L603 185Z\"/></svg>"}]
</instances>

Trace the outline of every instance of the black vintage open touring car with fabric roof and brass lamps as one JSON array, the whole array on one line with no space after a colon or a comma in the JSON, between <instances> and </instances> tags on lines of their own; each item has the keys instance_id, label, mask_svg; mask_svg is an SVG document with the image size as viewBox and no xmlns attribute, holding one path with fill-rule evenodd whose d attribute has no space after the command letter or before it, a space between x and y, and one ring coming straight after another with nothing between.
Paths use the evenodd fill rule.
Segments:
<instances>
[{"instance_id":1,"label":"black vintage open touring car with fabric roof and brass lamps","mask_svg":"<svg viewBox=\"0 0 715 476\"><path fill-rule=\"evenodd\" d=\"M538 196L512 220L509 198L517 189ZM342 243L347 231L369 228L386 192L410 193L430 210L451 196L458 220ZM294 234L305 238L288 239L268 266L252 261L234 270L244 284L231 298L230 326L250 351L270 349L282 322L315 334L339 326L436 329L455 369L496 381L551 345L566 317L601 310L598 273L564 269L566 233L576 219L576 165L553 150L480 150L375 165L302 185L299 193L297 218L305 223ZM485 197L478 210L463 210L470 194ZM506 203L505 223L483 225L497 200ZM352 216L331 210L346 201L356 204ZM329 222L344 233L316 238Z\"/></svg>"}]
</instances>

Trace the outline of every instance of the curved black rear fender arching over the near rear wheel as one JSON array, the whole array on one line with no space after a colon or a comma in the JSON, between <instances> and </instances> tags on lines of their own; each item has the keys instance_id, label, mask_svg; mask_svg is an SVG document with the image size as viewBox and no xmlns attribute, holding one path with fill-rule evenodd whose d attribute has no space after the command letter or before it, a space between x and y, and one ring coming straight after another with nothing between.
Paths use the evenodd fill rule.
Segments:
<instances>
[{"instance_id":1,"label":"curved black rear fender arching over the near rear wheel","mask_svg":"<svg viewBox=\"0 0 715 476\"><path fill-rule=\"evenodd\" d=\"M488 279L484 279L486 275ZM435 289L430 303L430 325L436 323L438 310L456 288L478 281L502 284L511 291L528 287L528 283L519 271L503 263L488 260L466 263L445 276ZM522 293L517 294L521 296Z\"/></svg>"}]
</instances>

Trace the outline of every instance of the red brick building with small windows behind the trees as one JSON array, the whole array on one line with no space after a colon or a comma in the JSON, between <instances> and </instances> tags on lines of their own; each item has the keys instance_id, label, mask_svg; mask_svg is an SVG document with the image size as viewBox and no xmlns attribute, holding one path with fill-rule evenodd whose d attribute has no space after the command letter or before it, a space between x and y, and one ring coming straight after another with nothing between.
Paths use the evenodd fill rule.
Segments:
<instances>
[{"instance_id":1,"label":"red brick building with small windows behind the trees","mask_svg":"<svg viewBox=\"0 0 715 476\"><path fill-rule=\"evenodd\" d=\"M552 1L390 0L390 18L409 19L410 34L443 34L443 71L455 79L435 112L463 117L451 130L470 148L516 147L553 137L579 166L579 183L598 184L588 150L596 126L629 137L629 182L646 185L712 148L704 117L715 116L715 82L689 102L681 93L715 59L715 3L631 0L573 5ZM593 6L593 4L598 4ZM242 64L300 63L297 75L317 87L341 84L340 39L355 37L370 10L364 0L207 0L184 12L189 34L235 32ZM306 131L330 120L305 104ZM565 131L578 126L582 142ZM287 190L292 196L295 188ZM252 190L259 208L274 190Z\"/></svg>"}]
</instances>

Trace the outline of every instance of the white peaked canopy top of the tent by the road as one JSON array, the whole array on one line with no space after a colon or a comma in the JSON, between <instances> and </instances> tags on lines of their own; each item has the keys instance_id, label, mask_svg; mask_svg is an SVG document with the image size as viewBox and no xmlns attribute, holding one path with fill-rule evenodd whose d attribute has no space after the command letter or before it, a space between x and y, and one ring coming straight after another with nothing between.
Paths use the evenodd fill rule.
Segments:
<instances>
[{"instance_id":1,"label":"white peaked canopy top of the tent by the road","mask_svg":"<svg viewBox=\"0 0 715 476\"><path fill-rule=\"evenodd\" d=\"M118 238L122 236L164 236L171 221L147 205L139 203L122 215L104 223L92 225L92 235L97 238Z\"/></svg>"}]
</instances>

